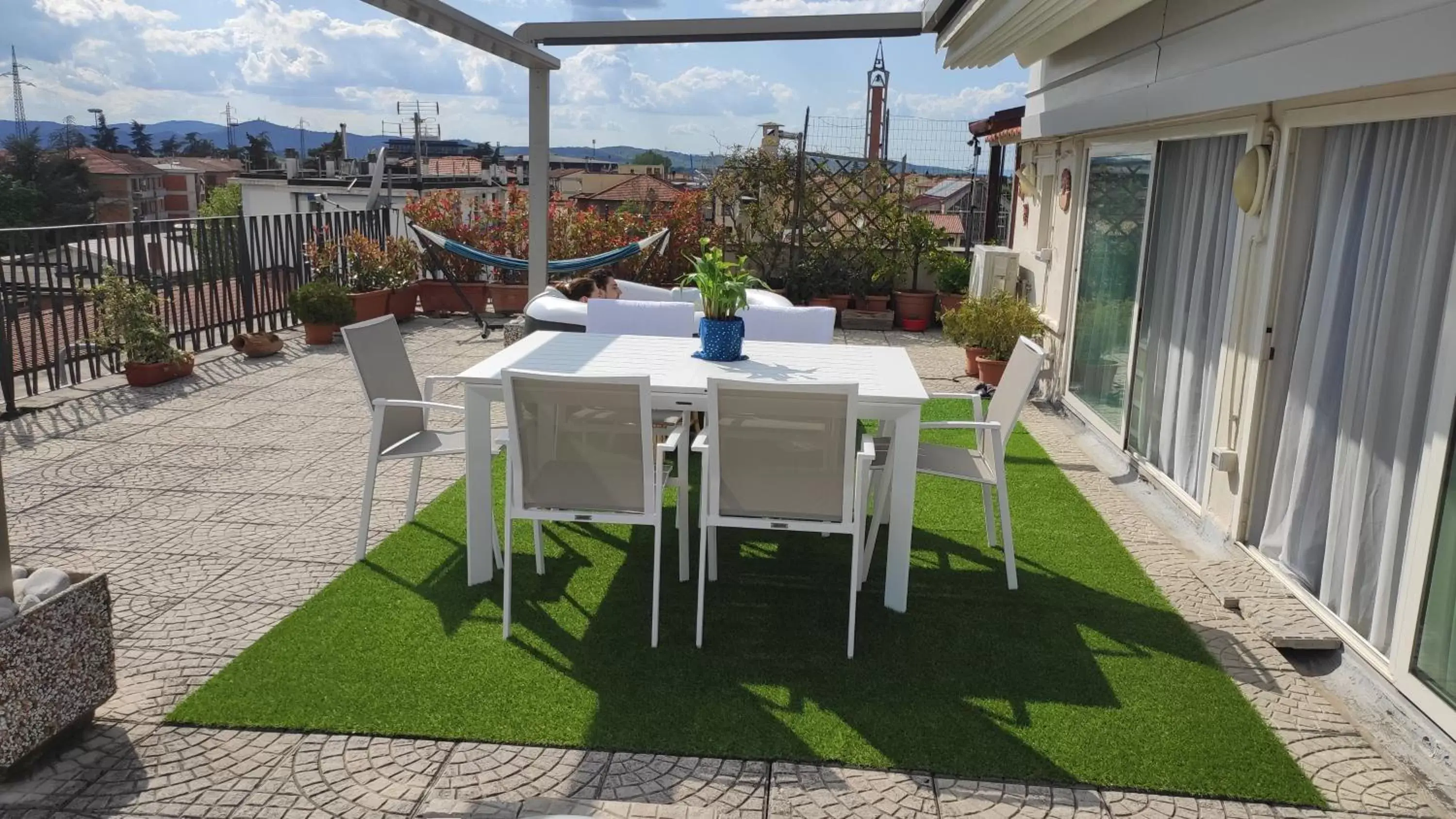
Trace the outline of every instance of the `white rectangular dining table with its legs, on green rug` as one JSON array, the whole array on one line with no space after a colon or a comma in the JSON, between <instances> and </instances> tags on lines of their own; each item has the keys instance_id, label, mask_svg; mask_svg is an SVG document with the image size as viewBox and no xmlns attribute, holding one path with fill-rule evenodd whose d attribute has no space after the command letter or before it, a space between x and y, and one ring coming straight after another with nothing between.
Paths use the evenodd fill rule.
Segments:
<instances>
[{"instance_id":1,"label":"white rectangular dining table with its legs, on green rug","mask_svg":"<svg viewBox=\"0 0 1456 819\"><path fill-rule=\"evenodd\" d=\"M504 400L501 371L527 369L572 375L648 375L654 409L706 412L708 380L735 378L772 384L859 385L859 416L884 422L890 436L891 495L885 550L885 607L906 610L910 579L910 531L914 519L916 451L920 406L929 400L920 375L901 348L744 342L744 361L693 358L697 339L614 336L540 330L470 367L459 375L464 387L466 429L466 582L495 575L492 543L491 409ZM680 463L686 463L683 436ZM680 521L687 503L678 503ZM684 527L692 531L690 527ZM687 538L678 548L678 579L687 579Z\"/></svg>"}]
</instances>

